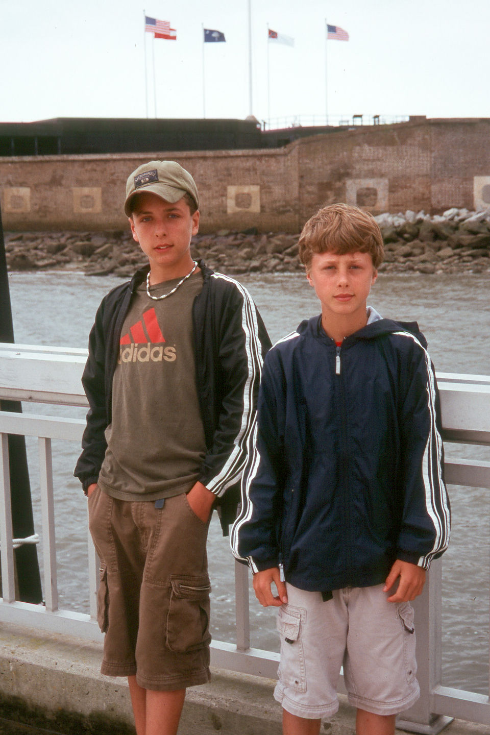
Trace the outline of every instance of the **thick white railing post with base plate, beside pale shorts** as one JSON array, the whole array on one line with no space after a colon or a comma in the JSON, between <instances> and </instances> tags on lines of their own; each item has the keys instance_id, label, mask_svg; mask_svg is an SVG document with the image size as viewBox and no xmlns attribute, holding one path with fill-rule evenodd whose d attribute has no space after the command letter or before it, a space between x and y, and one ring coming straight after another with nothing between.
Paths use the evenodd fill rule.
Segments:
<instances>
[{"instance_id":1,"label":"thick white railing post with base plate, beside pale shorts","mask_svg":"<svg viewBox=\"0 0 490 735\"><path fill-rule=\"evenodd\" d=\"M417 680L420 698L413 707L397 717L397 727L413 733L435 735L448 725L452 717L431 712L433 689L442 676L442 563L430 565L425 589L414 601L417 631Z\"/></svg>"}]
</instances>

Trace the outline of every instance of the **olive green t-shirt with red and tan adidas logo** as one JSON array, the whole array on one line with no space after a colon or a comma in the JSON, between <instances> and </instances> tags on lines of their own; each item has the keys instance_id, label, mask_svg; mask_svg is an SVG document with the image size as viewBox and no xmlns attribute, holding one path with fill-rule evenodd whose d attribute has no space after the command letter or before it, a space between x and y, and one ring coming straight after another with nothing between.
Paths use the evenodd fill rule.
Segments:
<instances>
[{"instance_id":1,"label":"olive green t-shirt with red and tan adidas logo","mask_svg":"<svg viewBox=\"0 0 490 735\"><path fill-rule=\"evenodd\" d=\"M180 279L151 287L169 293ZM143 283L123 324L112 380L112 423L98 484L125 501L159 500L187 492L206 452L195 385L192 302L200 271L161 301Z\"/></svg>"}]
</instances>

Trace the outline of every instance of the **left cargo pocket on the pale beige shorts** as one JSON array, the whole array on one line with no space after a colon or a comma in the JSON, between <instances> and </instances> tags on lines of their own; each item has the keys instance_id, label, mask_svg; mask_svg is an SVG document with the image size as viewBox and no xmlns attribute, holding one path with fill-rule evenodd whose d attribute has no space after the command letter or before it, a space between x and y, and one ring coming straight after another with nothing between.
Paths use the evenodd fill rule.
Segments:
<instances>
[{"instance_id":1,"label":"left cargo pocket on the pale beige shorts","mask_svg":"<svg viewBox=\"0 0 490 735\"><path fill-rule=\"evenodd\" d=\"M281 663L278 676L281 684L296 692L306 692L306 671L301 620L306 611L292 605L283 605L278 610L276 628L281 636Z\"/></svg>"}]
</instances>

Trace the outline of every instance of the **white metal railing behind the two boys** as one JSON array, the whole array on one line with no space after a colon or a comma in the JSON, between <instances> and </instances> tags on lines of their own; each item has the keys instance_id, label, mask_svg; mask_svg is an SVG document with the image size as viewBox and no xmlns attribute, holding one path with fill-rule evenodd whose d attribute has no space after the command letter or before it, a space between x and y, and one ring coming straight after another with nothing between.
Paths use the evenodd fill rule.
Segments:
<instances>
[{"instance_id":1,"label":"white metal railing behind the two boys","mask_svg":"<svg viewBox=\"0 0 490 735\"><path fill-rule=\"evenodd\" d=\"M45 404L86 406L80 375L84 350L8 345L0 343L0 400L39 401ZM446 442L490 447L490 377L438 373ZM0 620L60 634L94 640L102 636L96 623L98 560L87 530L89 549L90 614L59 609L55 549L51 441L82 437L84 421L76 418L26 415L0 411ZM37 437L43 535L45 604L15 600L15 570L10 514L8 434ZM448 484L490 489L490 462L452 459L446 462ZM87 526L88 528L88 526ZM212 664L241 673L275 678L278 653L250 647L248 570L235 562L236 640L212 643ZM442 686L442 566L433 562L417 609L417 661L421 697L399 719L399 726L418 733L437 733L451 717L490 725L488 695Z\"/></svg>"}]
</instances>

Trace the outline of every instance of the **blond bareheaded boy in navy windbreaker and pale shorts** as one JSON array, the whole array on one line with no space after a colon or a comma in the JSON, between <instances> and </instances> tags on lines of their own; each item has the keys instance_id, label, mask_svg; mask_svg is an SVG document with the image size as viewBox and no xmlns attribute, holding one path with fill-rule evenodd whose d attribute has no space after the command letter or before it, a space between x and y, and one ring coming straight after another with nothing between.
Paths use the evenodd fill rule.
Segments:
<instances>
[{"instance_id":1,"label":"blond bareheaded boy in navy windbreaker and pale shorts","mask_svg":"<svg viewBox=\"0 0 490 735\"><path fill-rule=\"evenodd\" d=\"M449 538L436 381L417 324L367 306L383 259L371 215L320 209L300 259L322 312L267 354L231 545L279 607L284 735L320 732L342 664L356 733L392 735L419 696L410 600Z\"/></svg>"}]
</instances>

